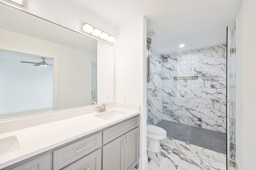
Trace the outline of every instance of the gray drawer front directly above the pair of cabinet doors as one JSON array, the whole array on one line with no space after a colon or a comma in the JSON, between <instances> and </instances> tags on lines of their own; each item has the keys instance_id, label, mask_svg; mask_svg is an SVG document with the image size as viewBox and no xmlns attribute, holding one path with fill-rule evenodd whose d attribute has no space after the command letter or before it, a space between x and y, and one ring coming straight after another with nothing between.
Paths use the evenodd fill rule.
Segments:
<instances>
[{"instance_id":1,"label":"gray drawer front directly above the pair of cabinet doors","mask_svg":"<svg viewBox=\"0 0 256 170\"><path fill-rule=\"evenodd\" d=\"M139 116L124 121L103 131L103 145L139 126Z\"/></svg>"}]
</instances>

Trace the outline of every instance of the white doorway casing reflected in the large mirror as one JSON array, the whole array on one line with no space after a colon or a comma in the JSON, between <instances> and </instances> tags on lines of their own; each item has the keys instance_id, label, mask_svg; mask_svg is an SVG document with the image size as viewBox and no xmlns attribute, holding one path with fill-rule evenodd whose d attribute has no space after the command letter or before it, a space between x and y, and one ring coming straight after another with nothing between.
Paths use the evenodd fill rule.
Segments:
<instances>
[{"instance_id":1,"label":"white doorway casing reflected in the large mirror","mask_svg":"<svg viewBox=\"0 0 256 170\"><path fill-rule=\"evenodd\" d=\"M24 53L24 54L29 54L29 55L36 55L40 57L47 57L47 58L52 58L54 59L54 64L53 64L53 70L54 70L54 75L53 75L53 108L54 110L59 109L59 56L50 54L50 53L44 53L41 51L34 51L30 49L24 49L20 47L14 47L10 45L3 45L0 44L0 49L5 50L5 51L12 51L12 52L18 52L18 53Z\"/></svg>"}]
</instances>

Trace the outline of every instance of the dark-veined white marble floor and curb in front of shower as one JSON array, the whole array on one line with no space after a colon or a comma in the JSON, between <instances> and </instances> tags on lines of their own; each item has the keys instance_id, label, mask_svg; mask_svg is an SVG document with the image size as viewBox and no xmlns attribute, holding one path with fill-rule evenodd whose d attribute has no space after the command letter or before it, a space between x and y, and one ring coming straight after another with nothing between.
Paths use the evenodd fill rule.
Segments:
<instances>
[{"instance_id":1,"label":"dark-veined white marble floor and curb in front of shower","mask_svg":"<svg viewBox=\"0 0 256 170\"><path fill-rule=\"evenodd\" d=\"M198 151L199 152L199 151ZM225 157L199 154L192 147L161 142L161 151L148 151L146 170L226 170ZM231 167L229 170L235 170Z\"/></svg>"}]
</instances>

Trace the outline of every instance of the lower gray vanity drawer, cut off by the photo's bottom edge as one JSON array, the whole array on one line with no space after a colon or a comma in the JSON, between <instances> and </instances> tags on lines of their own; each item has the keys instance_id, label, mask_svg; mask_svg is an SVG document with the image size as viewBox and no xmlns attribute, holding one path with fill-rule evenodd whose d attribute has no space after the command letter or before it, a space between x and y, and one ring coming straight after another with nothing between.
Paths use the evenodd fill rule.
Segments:
<instances>
[{"instance_id":1,"label":"lower gray vanity drawer, cut off by the photo's bottom edge","mask_svg":"<svg viewBox=\"0 0 256 170\"><path fill-rule=\"evenodd\" d=\"M101 170L101 149L92 152L62 170Z\"/></svg>"}]
</instances>

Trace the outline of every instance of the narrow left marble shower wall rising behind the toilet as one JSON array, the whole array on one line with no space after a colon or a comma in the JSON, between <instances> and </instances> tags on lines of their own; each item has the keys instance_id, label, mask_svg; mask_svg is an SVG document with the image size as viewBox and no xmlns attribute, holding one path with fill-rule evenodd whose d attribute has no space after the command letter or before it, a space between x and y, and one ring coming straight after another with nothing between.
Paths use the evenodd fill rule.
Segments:
<instances>
[{"instance_id":1,"label":"narrow left marble shower wall rising behind the toilet","mask_svg":"<svg viewBox=\"0 0 256 170\"><path fill-rule=\"evenodd\" d=\"M162 59L151 51L150 82L147 83L147 124L155 125L162 120Z\"/></svg>"}]
</instances>

